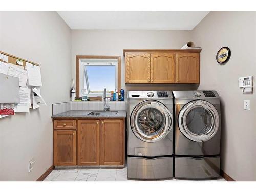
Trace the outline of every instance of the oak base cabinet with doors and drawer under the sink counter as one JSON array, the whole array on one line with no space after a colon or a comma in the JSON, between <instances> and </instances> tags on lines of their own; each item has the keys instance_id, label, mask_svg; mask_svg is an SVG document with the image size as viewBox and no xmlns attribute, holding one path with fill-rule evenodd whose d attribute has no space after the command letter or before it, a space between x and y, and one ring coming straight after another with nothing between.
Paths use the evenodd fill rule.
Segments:
<instances>
[{"instance_id":1,"label":"oak base cabinet with doors and drawer under the sink counter","mask_svg":"<svg viewBox=\"0 0 256 192\"><path fill-rule=\"evenodd\" d=\"M74 130L60 130L72 120L54 119L54 165L124 165L124 120L73 119Z\"/></svg>"}]
</instances>

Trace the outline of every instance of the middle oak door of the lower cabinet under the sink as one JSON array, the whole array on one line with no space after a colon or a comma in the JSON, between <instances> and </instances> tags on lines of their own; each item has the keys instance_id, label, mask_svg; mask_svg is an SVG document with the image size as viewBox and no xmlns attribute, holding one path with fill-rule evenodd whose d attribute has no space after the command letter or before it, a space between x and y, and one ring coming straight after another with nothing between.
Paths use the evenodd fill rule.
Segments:
<instances>
[{"instance_id":1,"label":"middle oak door of the lower cabinet under the sink","mask_svg":"<svg viewBox=\"0 0 256 192\"><path fill-rule=\"evenodd\" d=\"M78 120L77 163L99 165L100 121Z\"/></svg>"}]
</instances>

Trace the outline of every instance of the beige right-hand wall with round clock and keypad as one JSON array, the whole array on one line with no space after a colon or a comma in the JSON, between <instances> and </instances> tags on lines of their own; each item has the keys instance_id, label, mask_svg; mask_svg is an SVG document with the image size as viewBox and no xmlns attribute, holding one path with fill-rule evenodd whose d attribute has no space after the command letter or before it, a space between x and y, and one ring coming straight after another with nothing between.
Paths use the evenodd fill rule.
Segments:
<instances>
[{"instance_id":1,"label":"beige right-hand wall with round clock and keypad","mask_svg":"<svg viewBox=\"0 0 256 192\"><path fill-rule=\"evenodd\" d=\"M238 87L239 77L256 77L256 12L210 12L192 35L203 48L198 89L217 90L221 97L222 169L235 180L256 181L256 97ZM223 46L231 57L221 66L216 53ZM250 111L243 110L244 100L250 100Z\"/></svg>"}]
</instances>

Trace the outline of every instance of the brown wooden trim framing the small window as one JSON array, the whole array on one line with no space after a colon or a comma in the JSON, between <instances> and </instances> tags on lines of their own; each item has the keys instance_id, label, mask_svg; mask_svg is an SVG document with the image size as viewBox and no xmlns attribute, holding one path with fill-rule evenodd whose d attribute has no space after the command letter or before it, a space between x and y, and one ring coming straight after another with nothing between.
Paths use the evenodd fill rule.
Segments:
<instances>
[{"instance_id":1,"label":"brown wooden trim framing the small window","mask_svg":"<svg viewBox=\"0 0 256 192\"><path fill-rule=\"evenodd\" d=\"M80 71L79 60L80 59L117 59L117 89L121 90L121 56L102 56L102 55L76 55L76 97L79 97L80 93Z\"/></svg>"}]
</instances>

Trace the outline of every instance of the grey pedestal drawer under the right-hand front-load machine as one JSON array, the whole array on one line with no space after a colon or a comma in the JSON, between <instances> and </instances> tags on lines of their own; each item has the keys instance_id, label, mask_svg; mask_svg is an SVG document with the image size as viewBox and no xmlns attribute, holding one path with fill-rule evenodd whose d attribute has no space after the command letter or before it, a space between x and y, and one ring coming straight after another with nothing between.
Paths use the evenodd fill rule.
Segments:
<instances>
[{"instance_id":1,"label":"grey pedestal drawer under the right-hand front-load machine","mask_svg":"<svg viewBox=\"0 0 256 192\"><path fill-rule=\"evenodd\" d=\"M175 178L214 179L220 177L220 156L175 157Z\"/></svg>"}]
</instances>

